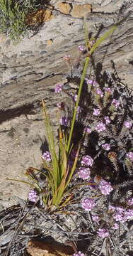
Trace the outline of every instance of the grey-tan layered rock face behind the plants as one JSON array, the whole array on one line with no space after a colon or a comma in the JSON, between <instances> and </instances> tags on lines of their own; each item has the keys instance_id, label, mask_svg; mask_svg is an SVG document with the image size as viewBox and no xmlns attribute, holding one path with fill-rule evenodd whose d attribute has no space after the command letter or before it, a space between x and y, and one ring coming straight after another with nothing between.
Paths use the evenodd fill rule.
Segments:
<instances>
[{"instance_id":1,"label":"grey-tan layered rock face behind the plants","mask_svg":"<svg viewBox=\"0 0 133 256\"><path fill-rule=\"evenodd\" d=\"M96 38L130 11L112 37L96 50L90 67L97 70L100 67L99 72L102 67L112 70L110 61L113 60L122 82L132 87L132 1L53 0L50 6L52 19L35 35L30 34L17 45L10 38L0 36L0 202L3 206L13 204L14 196L26 198L28 193L23 183L5 181L5 178L23 179L26 168L41 166L41 150L45 150L41 147L45 140L42 99L52 124L55 127L58 124L57 102L66 96L54 95L52 89L57 82L64 82L68 73L64 55L71 55L75 60L79 56L78 46L85 45L82 9L87 10L88 33Z\"/></svg>"}]
</instances>

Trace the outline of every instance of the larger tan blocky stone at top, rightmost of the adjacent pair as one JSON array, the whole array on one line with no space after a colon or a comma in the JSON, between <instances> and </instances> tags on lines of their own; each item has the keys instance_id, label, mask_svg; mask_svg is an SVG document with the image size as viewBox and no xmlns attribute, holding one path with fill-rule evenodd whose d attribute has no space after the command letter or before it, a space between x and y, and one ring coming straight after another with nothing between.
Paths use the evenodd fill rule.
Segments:
<instances>
[{"instance_id":1,"label":"larger tan blocky stone at top, rightmost of the adjacent pair","mask_svg":"<svg viewBox=\"0 0 133 256\"><path fill-rule=\"evenodd\" d=\"M73 5L73 9L70 14L72 17L81 18L86 16L86 14L90 14L91 9L91 4Z\"/></svg>"}]
</instances>

